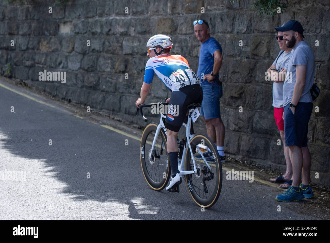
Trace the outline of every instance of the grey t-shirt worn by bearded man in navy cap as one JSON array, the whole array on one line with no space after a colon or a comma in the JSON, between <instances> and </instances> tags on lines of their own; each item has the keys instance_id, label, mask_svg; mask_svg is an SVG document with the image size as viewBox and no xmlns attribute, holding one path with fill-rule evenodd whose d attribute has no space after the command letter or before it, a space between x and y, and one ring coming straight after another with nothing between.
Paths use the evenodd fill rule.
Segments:
<instances>
[{"instance_id":1,"label":"grey t-shirt worn by bearded man in navy cap","mask_svg":"<svg viewBox=\"0 0 330 243\"><path fill-rule=\"evenodd\" d=\"M307 66L305 87L303 93L301 94L299 102L313 102L310 89L312 88L314 83L314 54L307 42L301 41L297 44L295 48L292 49L290 60L285 65L285 69L287 69L288 71L287 77L290 72L292 72L292 75L290 75L290 80L287 80L286 78L283 84L284 106L292 101L293 89L297 81L296 65Z\"/></svg>"}]
</instances>

